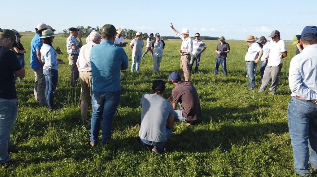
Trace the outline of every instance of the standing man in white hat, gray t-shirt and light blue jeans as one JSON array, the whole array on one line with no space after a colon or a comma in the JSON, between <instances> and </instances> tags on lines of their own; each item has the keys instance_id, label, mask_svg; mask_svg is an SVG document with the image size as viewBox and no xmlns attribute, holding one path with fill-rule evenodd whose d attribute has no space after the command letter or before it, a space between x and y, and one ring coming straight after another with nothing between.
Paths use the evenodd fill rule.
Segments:
<instances>
[{"instance_id":1,"label":"standing man in white hat, gray t-shirt and light blue jeans","mask_svg":"<svg viewBox=\"0 0 317 177\"><path fill-rule=\"evenodd\" d=\"M134 71L135 65L137 67L136 71L140 70L140 63L142 59L142 50L144 47L144 41L141 40L142 33L137 32L135 38L130 43L130 49L132 50L132 64L131 64L131 72Z\"/></svg>"}]
</instances>

